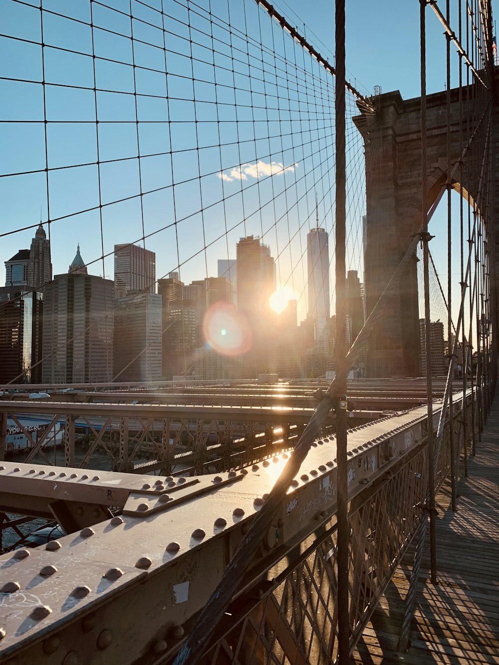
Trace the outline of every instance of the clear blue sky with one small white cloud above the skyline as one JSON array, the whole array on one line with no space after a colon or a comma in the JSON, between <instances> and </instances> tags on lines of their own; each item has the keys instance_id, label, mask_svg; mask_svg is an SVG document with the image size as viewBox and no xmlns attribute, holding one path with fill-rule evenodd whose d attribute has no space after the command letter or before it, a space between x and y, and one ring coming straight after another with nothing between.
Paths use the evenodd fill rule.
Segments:
<instances>
[{"instance_id":1,"label":"clear blue sky with one small white cloud above the skyline","mask_svg":"<svg viewBox=\"0 0 499 665\"><path fill-rule=\"evenodd\" d=\"M89 272L111 278L112 257L102 261L102 253L146 235L157 277L180 265L186 282L215 275L216 259L234 257L239 237L254 233L270 245L277 279L299 299L303 317L316 194L319 223L330 233L334 224L332 77L253 0L198 0L190 11L172 0L132 0L132 23L129 0L94 2L92 17L89 2L44 0L43 61L38 4L0 0L8 36L0 37L1 119L26 121L0 124L1 174L11 174L0 178L0 232L50 215L54 272L67 271L79 242L84 261L94 261ZM306 10L297 0L275 6L329 57L331 0ZM347 70L361 91L380 85L418 96L418 13L416 0L347 3ZM445 83L445 40L430 9L427 39L428 92L435 92ZM349 96L347 116L356 112ZM347 261L361 271L363 145L351 122L347 131ZM435 227L445 219L442 208ZM1 237L0 261L29 247L33 231ZM443 240L434 247L440 260Z\"/></svg>"}]
</instances>

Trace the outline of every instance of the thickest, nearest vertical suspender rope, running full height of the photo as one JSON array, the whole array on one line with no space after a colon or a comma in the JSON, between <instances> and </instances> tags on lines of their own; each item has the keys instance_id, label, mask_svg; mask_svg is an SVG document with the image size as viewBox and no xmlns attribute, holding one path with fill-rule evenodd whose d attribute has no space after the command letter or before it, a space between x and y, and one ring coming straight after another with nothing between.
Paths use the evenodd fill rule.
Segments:
<instances>
[{"instance_id":1,"label":"thickest, nearest vertical suspender rope, running full height of the photo","mask_svg":"<svg viewBox=\"0 0 499 665\"><path fill-rule=\"evenodd\" d=\"M335 11L335 140L336 140L336 214L335 214L335 291L336 291L336 390L347 392L345 354L347 351L345 313L345 0L336 0ZM346 400L339 402L345 404ZM345 404L346 406L346 404ZM347 411L336 410L336 447L338 464L338 662L349 662L349 525L347 484Z\"/></svg>"}]
</instances>

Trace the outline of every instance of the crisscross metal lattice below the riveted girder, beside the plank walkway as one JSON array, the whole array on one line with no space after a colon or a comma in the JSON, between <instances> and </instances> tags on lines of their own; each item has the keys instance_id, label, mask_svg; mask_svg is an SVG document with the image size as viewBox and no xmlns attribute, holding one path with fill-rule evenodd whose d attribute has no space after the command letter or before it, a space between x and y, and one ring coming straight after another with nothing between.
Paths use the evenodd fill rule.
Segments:
<instances>
[{"instance_id":1,"label":"crisscross metal lattice below the riveted girder, beside the plank walkway","mask_svg":"<svg viewBox=\"0 0 499 665\"><path fill-rule=\"evenodd\" d=\"M454 436L463 419L470 426L471 402L454 412ZM420 446L351 501L348 586L352 648L422 526L428 487L425 425ZM391 446L387 442L387 460L393 458ZM448 423L436 469L437 490L450 471L450 454ZM213 635L214 644L199 662L337 662L336 517L317 511L314 520L317 527L307 539L271 567L249 593L234 599Z\"/></svg>"}]
</instances>

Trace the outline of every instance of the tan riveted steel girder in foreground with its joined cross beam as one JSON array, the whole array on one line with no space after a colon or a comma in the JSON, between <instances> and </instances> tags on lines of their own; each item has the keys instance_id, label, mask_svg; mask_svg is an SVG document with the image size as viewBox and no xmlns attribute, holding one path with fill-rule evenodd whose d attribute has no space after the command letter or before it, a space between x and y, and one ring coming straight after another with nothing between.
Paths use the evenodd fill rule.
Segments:
<instances>
[{"instance_id":1,"label":"tan riveted steel girder in foreground with its joined cross beam","mask_svg":"<svg viewBox=\"0 0 499 665\"><path fill-rule=\"evenodd\" d=\"M438 402L434 406L436 426ZM381 511L383 519L387 511L395 513L372 578L378 585L391 574L387 541L395 543L396 534L394 546L400 548L407 537L403 534L418 521L412 506L422 500L425 487L425 422L426 408L421 407L349 434L352 500L378 485L385 493L393 487L389 495L395 496L397 487L412 492L409 500L399 495ZM246 594L241 597L245 602L261 598L261 591L268 595L268 571L289 565L288 553L300 543L306 545L314 533L320 536L328 523L326 532L334 531L334 456L333 437L313 444L238 591ZM159 477L154 485L146 475L94 475L82 473L84 469L2 462L0 510L19 512L24 506L31 514L51 513L69 535L45 548L0 557L0 660L6 665L13 663L11 656L17 664L166 662L220 580L287 457L283 453L220 475ZM122 515L111 518L110 507ZM377 519L379 513L372 515ZM372 533L374 543L376 528ZM354 550L362 560L363 547ZM334 552L334 543L324 551L328 569ZM313 556L319 554L322 550ZM271 602L277 602L277 591ZM359 605L359 616L363 612ZM272 616L267 614L269 621Z\"/></svg>"}]
</instances>

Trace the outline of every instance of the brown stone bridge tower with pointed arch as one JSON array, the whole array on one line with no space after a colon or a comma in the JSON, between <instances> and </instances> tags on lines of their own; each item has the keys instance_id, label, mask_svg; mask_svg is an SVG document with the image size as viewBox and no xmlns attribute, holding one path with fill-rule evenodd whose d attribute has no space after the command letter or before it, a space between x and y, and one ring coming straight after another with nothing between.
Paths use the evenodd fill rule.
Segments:
<instances>
[{"instance_id":1,"label":"brown stone bridge tower with pointed arch","mask_svg":"<svg viewBox=\"0 0 499 665\"><path fill-rule=\"evenodd\" d=\"M426 98L428 209L447 182L446 100L446 92L431 94ZM397 90L376 96L372 101L375 104L375 112L361 109L361 115L353 119L365 143L367 315L373 310L385 285L405 254L411 237L421 225L420 98L403 100ZM450 104L450 170L452 170L455 162L460 160L462 148L482 117L486 102L480 103L480 100L477 102L476 98L472 97L471 88L464 87L461 106L458 88L451 90ZM495 134L498 133L494 130L496 125L494 120L497 115L495 104L493 108L494 112L490 118L493 128L489 152L491 168L486 168L486 173L491 171L496 176L499 172L499 156L496 156L496 140L494 140ZM489 115L485 114L478 136L464 160L462 182L458 182L458 173L451 185L470 203L476 202L478 197L478 207L481 201L486 201L489 197L490 204L499 211L496 177L485 178L482 194L478 196L477 174L480 174ZM480 164L477 163L478 160ZM496 219L499 219L497 215ZM430 221L428 227L430 233L435 236L441 235L446 239L446 225L440 228L435 224L436 222ZM493 233L491 237L494 237ZM468 243L466 243L466 253L467 249ZM491 251L491 265L492 256ZM421 376L416 264L417 259L414 257L399 283L397 294L385 309L368 342L368 377ZM493 267L492 272L494 272ZM491 309L495 317L494 282L494 275L491 275L494 295Z\"/></svg>"}]
</instances>

